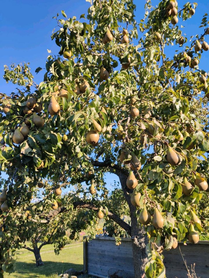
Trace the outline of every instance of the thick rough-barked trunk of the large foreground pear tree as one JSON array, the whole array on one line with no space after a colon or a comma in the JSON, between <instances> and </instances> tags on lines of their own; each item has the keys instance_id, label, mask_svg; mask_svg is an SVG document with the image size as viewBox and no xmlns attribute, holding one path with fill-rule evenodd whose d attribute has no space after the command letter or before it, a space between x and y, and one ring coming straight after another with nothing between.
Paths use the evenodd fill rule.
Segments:
<instances>
[{"instance_id":1,"label":"thick rough-barked trunk of the large foreground pear tree","mask_svg":"<svg viewBox=\"0 0 209 278\"><path fill-rule=\"evenodd\" d=\"M135 278L143 278L145 264L147 263L146 245L148 243L148 237L144 228L137 222L137 218L135 216L136 208L131 204L130 197L127 194L127 191L129 190L126 186L127 176L122 173L119 173L118 176L120 178L120 183L125 194L126 201L130 208Z\"/></svg>"}]
</instances>

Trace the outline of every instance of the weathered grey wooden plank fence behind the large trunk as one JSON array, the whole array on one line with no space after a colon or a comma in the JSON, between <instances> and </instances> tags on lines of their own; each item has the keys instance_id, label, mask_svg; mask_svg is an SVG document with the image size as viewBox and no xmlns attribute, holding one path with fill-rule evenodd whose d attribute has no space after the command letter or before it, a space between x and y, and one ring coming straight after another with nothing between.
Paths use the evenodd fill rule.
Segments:
<instances>
[{"instance_id":1,"label":"weathered grey wooden plank fence behind the large trunk","mask_svg":"<svg viewBox=\"0 0 209 278\"><path fill-rule=\"evenodd\" d=\"M187 265L191 268L195 263L197 277L209 278L209 241L187 245L179 243L179 247ZM167 278L188 277L179 247L163 252ZM131 239L122 238L119 246L113 237L98 237L84 242L84 273L107 278L110 268L122 270L127 278L134 278Z\"/></svg>"}]
</instances>

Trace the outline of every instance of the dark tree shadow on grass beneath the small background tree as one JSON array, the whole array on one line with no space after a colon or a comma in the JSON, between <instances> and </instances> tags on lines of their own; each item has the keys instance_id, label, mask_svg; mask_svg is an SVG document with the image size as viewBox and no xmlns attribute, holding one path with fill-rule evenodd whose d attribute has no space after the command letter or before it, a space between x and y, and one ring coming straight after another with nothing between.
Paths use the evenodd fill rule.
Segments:
<instances>
[{"instance_id":1,"label":"dark tree shadow on grass beneath the small background tree","mask_svg":"<svg viewBox=\"0 0 209 278\"><path fill-rule=\"evenodd\" d=\"M43 266L35 266L34 263L24 263L16 262L15 263L15 272L10 275L10 277L30 277L38 278L40 275L51 275L57 273L58 275L65 272L69 268L74 268L75 270L83 270L82 264L71 264L71 263L62 263L54 261L44 261Z\"/></svg>"}]
</instances>

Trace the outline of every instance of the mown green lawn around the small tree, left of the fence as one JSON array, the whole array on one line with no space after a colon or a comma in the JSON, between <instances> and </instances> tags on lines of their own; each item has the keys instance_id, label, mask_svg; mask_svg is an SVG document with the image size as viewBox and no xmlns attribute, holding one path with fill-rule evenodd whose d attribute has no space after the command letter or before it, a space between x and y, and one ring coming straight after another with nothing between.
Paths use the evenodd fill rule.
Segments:
<instances>
[{"instance_id":1,"label":"mown green lawn around the small tree, left of the fence","mask_svg":"<svg viewBox=\"0 0 209 278\"><path fill-rule=\"evenodd\" d=\"M83 269L83 243L68 244L56 256L53 245L45 245L41 249L44 266L36 267L34 254L26 249L17 250L15 272L5 278L46 278L53 273L61 274L69 268ZM51 276L56 277L56 275Z\"/></svg>"}]
</instances>

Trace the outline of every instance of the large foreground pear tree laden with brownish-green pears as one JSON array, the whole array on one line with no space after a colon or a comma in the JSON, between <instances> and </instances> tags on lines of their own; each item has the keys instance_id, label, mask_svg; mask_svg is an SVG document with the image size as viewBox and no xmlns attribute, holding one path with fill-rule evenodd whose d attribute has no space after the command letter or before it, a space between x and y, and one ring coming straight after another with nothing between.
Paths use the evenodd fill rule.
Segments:
<instances>
[{"instance_id":1,"label":"large foreground pear tree laden with brownish-green pears","mask_svg":"<svg viewBox=\"0 0 209 278\"><path fill-rule=\"evenodd\" d=\"M209 88L199 61L209 48L208 15L189 41L178 21L189 22L197 3L147 1L137 22L132 0L88 2L80 19L55 17L59 53L49 53L43 82L27 64L5 67L5 80L21 87L1 94L0 162L9 176L0 196L1 272L12 271L17 230L45 179L42 203L51 211L35 209L28 221L85 211L93 226L104 217L131 237L136 278L165 277L162 251L197 243L202 231L196 209L208 190ZM120 180L129 223L104 197L105 173ZM73 194L62 200L57 186ZM75 235L79 220L71 221Z\"/></svg>"}]
</instances>

